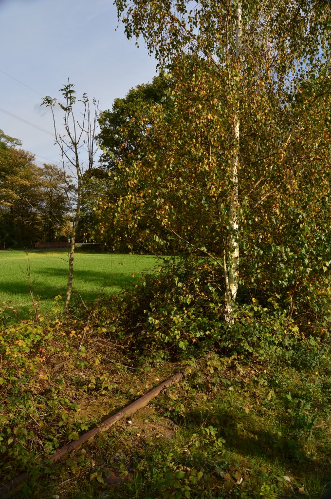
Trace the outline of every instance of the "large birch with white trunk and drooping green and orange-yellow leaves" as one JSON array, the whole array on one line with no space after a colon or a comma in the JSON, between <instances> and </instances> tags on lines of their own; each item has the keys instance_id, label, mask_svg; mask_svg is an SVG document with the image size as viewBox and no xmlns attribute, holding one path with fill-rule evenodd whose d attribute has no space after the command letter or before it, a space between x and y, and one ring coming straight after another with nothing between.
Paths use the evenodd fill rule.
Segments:
<instances>
[{"instance_id":1,"label":"large birch with white trunk and drooping green and orange-yellow leaves","mask_svg":"<svg viewBox=\"0 0 331 499\"><path fill-rule=\"evenodd\" d=\"M303 257L299 222L320 209L325 222L329 210L330 5L115 3L128 37L143 35L173 79L154 126L141 122L153 147L123 164L131 234L145 217L165 247L175 238L213 261L227 320L236 297L271 290L292 314L307 261L319 253L317 276L329 248L326 225L312 221Z\"/></svg>"}]
</instances>

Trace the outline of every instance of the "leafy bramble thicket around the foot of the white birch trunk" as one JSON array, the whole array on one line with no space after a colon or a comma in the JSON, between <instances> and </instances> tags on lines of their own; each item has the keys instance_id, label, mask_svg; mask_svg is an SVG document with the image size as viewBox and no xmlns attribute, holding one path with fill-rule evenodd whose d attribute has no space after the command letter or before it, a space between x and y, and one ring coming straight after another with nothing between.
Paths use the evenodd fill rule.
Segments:
<instances>
[{"instance_id":1,"label":"leafy bramble thicket around the foot of the white birch trunk","mask_svg":"<svg viewBox=\"0 0 331 499\"><path fill-rule=\"evenodd\" d=\"M311 314L307 314L306 325L312 327L305 328L305 316L291 313L278 294L264 296L262 304L251 295L246 302L238 300L229 323L224 320L221 286L219 269L202 258L167 260L157 273L145 275L135 289L134 303L131 298L122 327L128 334L136 328L141 353L148 344L154 359L189 358L216 349L220 355L235 353L250 361L282 359L294 366L302 362L309 369L323 361L329 333L314 327ZM243 287L244 297L248 291ZM114 300L112 303L116 308ZM130 330L126 326L129 319Z\"/></svg>"}]
</instances>

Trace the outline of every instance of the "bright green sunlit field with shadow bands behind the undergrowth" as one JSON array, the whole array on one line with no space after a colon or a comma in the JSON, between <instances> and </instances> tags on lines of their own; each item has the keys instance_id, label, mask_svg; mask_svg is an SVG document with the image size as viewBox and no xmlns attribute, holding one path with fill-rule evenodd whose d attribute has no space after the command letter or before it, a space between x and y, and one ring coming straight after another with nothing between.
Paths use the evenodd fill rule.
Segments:
<instances>
[{"instance_id":1,"label":"bright green sunlit field with shadow bands behind the undergrowth","mask_svg":"<svg viewBox=\"0 0 331 499\"><path fill-rule=\"evenodd\" d=\"M65 298L68 278L66 250L29 251L30 280L39 310L48 315L54 297ZM119 293L137 284L143 270L153 270L157 259L150 255L85 253L75 254L73 300L90 302L100 294ZM62 300L63 301L63 300ZM20 317L28 317L32 306L28 288L27 258L24 251L0 252L0 308L19 309Z\"/></svg>"}]
</instances>

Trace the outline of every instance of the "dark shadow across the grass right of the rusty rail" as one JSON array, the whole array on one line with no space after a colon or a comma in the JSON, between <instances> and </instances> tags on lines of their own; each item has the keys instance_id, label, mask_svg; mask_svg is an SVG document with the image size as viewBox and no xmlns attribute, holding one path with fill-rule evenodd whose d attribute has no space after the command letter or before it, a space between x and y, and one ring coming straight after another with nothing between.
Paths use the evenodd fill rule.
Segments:
<instances>
[{"instance_id":1,"label":"dark shadow across the grass right of the rusty rail","mask_svg":"<svg viewBox=\"0 0 331 499\"><path fill-rule=\"evenodd\" d=\"M299 439L295 437L294 431L291 432L294 428L290 427L282 414L275 414L274 418L275 421L283 423L283 425L280 424L279 431L262 427L259 419L254 416L238 414L220 406L219 410L214 413L188 412L182 425L188 428L196 427L197 430L201 426L216 426L225 439L227 452L229 455L233 453L236 456L235 459L241 456L246 461L246 465L247 460L250 465L255 462L256 466L260 467L261 473L268 473L269 470L275 471L278 465L281 468L281 474L284 470L292 470L291 474L298 480L305 478L309 482L314 476L315 488L310 497L329 498L325 496L325 493L331 487L331 470L328 464L331 462L330 442L326 440L319 442L319 454L323 456L323 462L321 462L307 455ZM281 432L282 429L283 432ZM245 467L244 462L243 466Z\"/></svg>"}]
</instances>

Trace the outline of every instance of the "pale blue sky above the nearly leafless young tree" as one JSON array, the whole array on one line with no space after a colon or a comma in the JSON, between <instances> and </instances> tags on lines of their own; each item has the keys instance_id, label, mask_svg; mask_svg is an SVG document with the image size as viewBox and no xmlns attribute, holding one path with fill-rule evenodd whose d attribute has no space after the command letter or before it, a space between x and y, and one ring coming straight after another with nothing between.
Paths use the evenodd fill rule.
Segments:
<instances>
[{"instance_id":1,"label":"pale blue sky above the nearly leafless young tree","mask_svg":"<svg viewBox=\"0 0 331 499\"><path fill-rule=\"evenodd\" d=\"M52 132L41 98L58 97L68 78L78 96L99 98L101 110L152 81L156 61L144 41L137 48L122 24L115 31L117 25L112 0L0 0L0 108ZM56 117L60 123L60 111ZM1 110L0 128L22 140L39 166L60 161L53 138L43 131Z\"/></svg>"}]
</instances>

